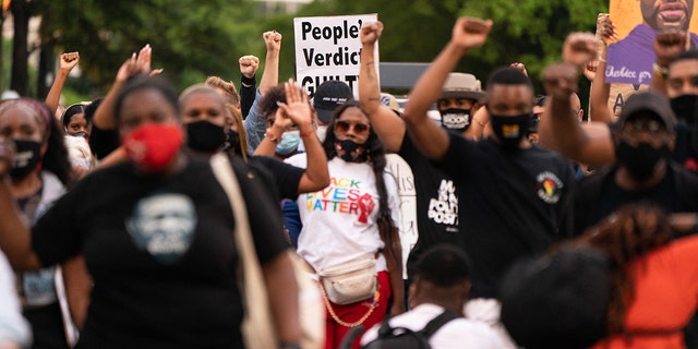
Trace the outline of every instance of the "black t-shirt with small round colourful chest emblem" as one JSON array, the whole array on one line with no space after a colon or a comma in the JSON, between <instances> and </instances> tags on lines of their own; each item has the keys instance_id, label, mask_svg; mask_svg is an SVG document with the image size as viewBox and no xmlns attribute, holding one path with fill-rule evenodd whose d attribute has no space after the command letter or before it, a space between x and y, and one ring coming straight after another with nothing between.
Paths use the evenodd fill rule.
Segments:
<instances>
[{"instance_id":1,"label":"black t-shirt with small round colourful chest emblem","mask_svg":"<svg viewBox=\"0 0 698 349\"><path fill-rule=\"evenodd\" d=\"M464 249L472 260L472 298L494 298L509 264L569 234L575 173L557 154L532 146L507 152L492 140L450 134L440 166L460 193Z\"/></svg>"}]
</instances>

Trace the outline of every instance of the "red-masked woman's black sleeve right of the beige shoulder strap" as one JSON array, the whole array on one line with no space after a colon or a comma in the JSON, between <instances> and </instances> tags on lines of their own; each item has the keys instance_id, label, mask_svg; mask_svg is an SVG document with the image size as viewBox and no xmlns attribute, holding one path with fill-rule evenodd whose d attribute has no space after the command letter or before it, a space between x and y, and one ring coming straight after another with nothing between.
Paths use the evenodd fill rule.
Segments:
<instances>
[{"instance_id":1,"label":"red-masked woman's black sleeve right of the beige shoulder strap","mask_svg":"<svg viewBox=\"0 0 698 349\"><path fill-rule=\"evenodd\" d=\"M265 264L290 248L284 232L281 207L269 190L264 172L254 170L239 158L231 161L245 201L257 258Z\"/></svg>"}]
</instances>

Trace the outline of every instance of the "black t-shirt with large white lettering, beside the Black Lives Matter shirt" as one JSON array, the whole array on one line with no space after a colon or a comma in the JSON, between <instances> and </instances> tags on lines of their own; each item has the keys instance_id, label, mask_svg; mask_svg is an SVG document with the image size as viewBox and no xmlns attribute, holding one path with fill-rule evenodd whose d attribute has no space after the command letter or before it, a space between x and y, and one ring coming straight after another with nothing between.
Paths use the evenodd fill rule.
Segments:
<instances>
[{"instance_id":1,"label":"black t-shirt with large white lettering, beside the Black Lives Matter shirt","mask_svg":"<svg viewBox=\"0 0 698 349\"><path fill-rule=\"evenodd\" d=\"M419 256L437 243L462 245L458 228L458 192L453 179L422 155L405 133L397 153L412 169L419 237L407 260L411 278Z\"/></svg>"}]
</instances>

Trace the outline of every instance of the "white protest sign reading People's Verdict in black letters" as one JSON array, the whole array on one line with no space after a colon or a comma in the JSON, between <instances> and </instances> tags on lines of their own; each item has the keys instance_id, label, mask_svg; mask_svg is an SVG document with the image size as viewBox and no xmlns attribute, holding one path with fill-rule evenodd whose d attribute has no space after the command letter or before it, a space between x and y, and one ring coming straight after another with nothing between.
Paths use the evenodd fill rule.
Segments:
<instances>
[{"instance_id":1,"label":"white protest sign reading People's Verdict in black letters","mask_svg":"<svg viewBox=\"0 0 698 349\"><path fill-rule=\"evenodd\" d=\"M377 13L293 19L296 81L311 97L327 80L344 81L359 95L361 25L377 20ZM377 43L374 57L380 76Z\"/></svg>"}]
</instances>

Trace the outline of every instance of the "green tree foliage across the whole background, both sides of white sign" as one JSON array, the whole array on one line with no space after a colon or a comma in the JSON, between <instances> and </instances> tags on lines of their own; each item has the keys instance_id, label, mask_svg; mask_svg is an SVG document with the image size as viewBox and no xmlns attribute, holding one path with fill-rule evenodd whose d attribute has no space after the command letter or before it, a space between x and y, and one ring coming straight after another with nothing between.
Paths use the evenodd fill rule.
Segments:
<instances>
[{"instance_id":1,"label":"green tree foliage across the whole background, both sides of white sign","mask_svg":"<svg viewBox=\"0 0 698 349\"><path fill-rule=\"evenodd\" d=\"M264 15L252 0L15 0L43 17L41 39L55 53L79 50L86 80L104 94L132 52L153 46L153 67L180 88L207 75L238 80L238 58L258 56L262 33L284 35L281 79L293 76L294 16L378 13L385 24L381 60L430 62L450 38L457 16L492 19L489 41L469 52L457 70L481 80L495 67L524 62L535 80L559 59L565 36L593 31L607 0L315 0L293 15ZM28 50L29 48L27 48ZM263 67L261 67L263 69Z\"/></svg>"}]
</instances>

